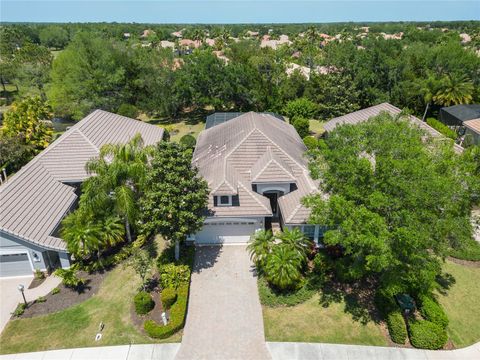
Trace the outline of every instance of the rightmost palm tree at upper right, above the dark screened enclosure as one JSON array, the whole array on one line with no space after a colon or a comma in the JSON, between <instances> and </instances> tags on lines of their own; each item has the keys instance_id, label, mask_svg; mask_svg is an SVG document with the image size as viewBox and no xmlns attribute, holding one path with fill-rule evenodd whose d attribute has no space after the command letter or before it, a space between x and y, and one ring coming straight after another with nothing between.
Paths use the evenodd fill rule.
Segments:
<instances>
[{"instance_id":1,"label":"rightmost palm tree at upper right, above the dark screened enclosure","mask_svg":"<svg viewBox=\"0 0 480 360\"><path fill-rule=\"evenodd\" d=\"M450 74L441 80L440 89L433 100L443 106L470 104L474 90L473 82L466 76Z\"/></svg>"}]
</instances>

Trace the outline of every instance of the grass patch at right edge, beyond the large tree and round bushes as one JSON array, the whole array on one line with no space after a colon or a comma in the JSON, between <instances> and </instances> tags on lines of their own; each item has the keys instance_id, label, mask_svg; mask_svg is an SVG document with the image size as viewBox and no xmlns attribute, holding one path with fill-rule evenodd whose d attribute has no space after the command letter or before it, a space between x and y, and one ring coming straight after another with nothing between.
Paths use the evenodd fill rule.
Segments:
<instances>
[{"instance_id":1,"label":"grass patch at right edge, beyond the large tree and round bushes","mask_svg":"<svg viewBox=\"0 0 480 360\"><path fill-rule=\"evenodd\" d=\"M444 270L455 283L439 301L448 315L447 331L456 347L480 341L480 268L447 261Z\"/></svg>"}]
</instances>

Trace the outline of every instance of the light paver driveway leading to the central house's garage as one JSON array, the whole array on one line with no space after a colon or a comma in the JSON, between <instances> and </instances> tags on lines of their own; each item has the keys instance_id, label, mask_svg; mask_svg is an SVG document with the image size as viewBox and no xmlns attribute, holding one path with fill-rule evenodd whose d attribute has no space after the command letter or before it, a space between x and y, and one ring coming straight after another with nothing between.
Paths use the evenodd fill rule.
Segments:
<instances>
[{"instance_id":1,"label":"light paver driveway leading to the central house's garage","mask_svg":"<svg viewBox=\"0 0 480 360\"><path fill-rule=\"evenodd\" d=\"M198 247L176 359L270 359L245 246Z\"/></svg>"}]
</instances>

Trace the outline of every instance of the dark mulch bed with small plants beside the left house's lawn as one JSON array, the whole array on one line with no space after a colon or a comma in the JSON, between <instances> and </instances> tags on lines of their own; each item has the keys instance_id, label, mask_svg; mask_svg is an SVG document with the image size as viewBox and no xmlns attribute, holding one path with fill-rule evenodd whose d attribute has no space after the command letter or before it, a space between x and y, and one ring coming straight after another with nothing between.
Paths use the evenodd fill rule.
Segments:
<instances>
[{"instance_id":1,"label":"dark mulch bed with small plants beside the left house's lawn","mask_svg":"<svg viewBox=\"0 0 480 360\"><path fill-rule=\"evenodd\" d=\"M45 302L29 303L28 308L25 309L25 312L20 317L32 318L40 315L47 315L81 303L98 292L106 275L107 271L92 274L80 271L78 272L78 276L85 279L85 285L82 289L77 291L60 284L58 286L60 289L58 294L53 295L52 293L49 293L45 296Z\"/></svg>"}]
</instances>

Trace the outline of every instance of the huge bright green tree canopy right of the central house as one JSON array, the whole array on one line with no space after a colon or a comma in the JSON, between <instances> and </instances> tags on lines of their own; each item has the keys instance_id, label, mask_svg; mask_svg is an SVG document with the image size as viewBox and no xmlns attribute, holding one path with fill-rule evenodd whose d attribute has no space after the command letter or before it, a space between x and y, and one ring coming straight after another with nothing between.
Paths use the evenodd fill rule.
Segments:
<instances>
[{"instance_id":1,"label":"huge bright green tree canopy right of the central house","mask_svg":"<svg viewBox=\"0 0 480 360\"><path fill-rule=\"evenodd\" d=\"M312 174L330 196L304 201L311 222L330 228L325 244L344 250L344 278L373 276L392 292L432 290L446 251L472 236L480 190L475 156L455 154L447 141L382 114L337 127L311 152Z\"/></svg>"}]
</instances>

